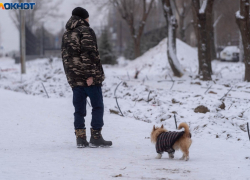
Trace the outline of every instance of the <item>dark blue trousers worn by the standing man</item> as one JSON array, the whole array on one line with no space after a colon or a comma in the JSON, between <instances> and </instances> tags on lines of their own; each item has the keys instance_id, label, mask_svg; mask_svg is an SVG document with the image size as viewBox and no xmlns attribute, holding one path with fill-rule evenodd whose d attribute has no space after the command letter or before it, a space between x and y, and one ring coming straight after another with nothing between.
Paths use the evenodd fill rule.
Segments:
<instances>
[{"instance_id":1,"label":"dark blue trousers worn by the standing man","mask_svg":"<svg viewBox=\"0 0 250 180\"><path fill-rule=\"evenodd\" d=\"M101 86L77 86L73 89L73 105L75 107L75 129L85 129L86 104L87 97L90 99L92 106L91 126L94 130L102 128L103 124L103 97Z\"/></svg>"}]
</instances>

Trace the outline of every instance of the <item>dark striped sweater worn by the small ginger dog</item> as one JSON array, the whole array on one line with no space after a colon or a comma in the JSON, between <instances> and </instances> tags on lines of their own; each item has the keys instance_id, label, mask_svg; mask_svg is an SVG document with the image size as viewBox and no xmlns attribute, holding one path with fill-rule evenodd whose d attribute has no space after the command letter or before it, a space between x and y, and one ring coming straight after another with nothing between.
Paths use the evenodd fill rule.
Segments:
<instances>
[{"instance_id":1,"label":"dark striped sweater worn by the small ginger dog","mask_svg":"<svg viewBox=\"0 0 250 180\"><path fill-rule=\"evenodd\" d=\"M184 131L181 132L164 132L161 133L156 141L156 152L162 154L164 151L168 153L174 153L173 149L174 143L184 134Z\"/></svg>"}]
</instances>

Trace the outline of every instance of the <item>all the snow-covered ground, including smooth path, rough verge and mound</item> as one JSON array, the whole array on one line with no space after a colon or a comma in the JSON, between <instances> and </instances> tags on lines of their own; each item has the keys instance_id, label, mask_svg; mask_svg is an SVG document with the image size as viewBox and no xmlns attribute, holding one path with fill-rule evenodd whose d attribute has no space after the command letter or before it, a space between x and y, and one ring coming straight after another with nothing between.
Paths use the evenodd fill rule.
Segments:
<instances>
[{"instance_id":1,"label":"all the snow-covered ground, including smooth path, rough verge and mound","mask_svg":"<svg viewBox=\"0 0 250 180\"><path fill-rule=\"evenodd\" d=\"M104 66L103 134L114 144L104 149L75 147L72 91L61 59L27 62L23 76L12 59L0 59L0 179L112 179L120 174L117 178L250 179L250 84L243 82L244 64L214 61L214 81L202 82L196 77L197 51L177 41L177 56L182 78L172 77L166 39L135 61ZM136 68L141 72L135 80ZM120 82L116 96L125 117L110 114L118 111L114 90ZM199 105L210 112L195 113ZM88 107L86 124L90 112ZM188 162L177 159L180 152L174 160L154 159L151 129L164 124L175 130L174 114L193 135Z\"/></svg>"}]
</instances>

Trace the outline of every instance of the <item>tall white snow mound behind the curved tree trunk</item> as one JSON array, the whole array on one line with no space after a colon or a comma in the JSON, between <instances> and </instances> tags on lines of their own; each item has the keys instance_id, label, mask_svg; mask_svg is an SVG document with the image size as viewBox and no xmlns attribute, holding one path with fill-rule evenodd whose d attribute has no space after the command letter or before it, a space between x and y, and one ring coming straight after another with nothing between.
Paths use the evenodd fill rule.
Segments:
<instances>
[{"instance_id":1,"label":"tall white snow mound behind the curved tree trunk","mask_svg":"<svg viewBox=\"0 0 250 180\"><path fill-rule=\"evenodd\" d=\"M176 41L177 57L184 69L184 75L197 73L198 71L198 54L197 51L177 39ZM138 57L128 64L126 70L133 73L135 69L141 70L148 76L164 77L173 74L167 57L167 38L162 40L157 46Z\"/></svg>"}]
</instances>

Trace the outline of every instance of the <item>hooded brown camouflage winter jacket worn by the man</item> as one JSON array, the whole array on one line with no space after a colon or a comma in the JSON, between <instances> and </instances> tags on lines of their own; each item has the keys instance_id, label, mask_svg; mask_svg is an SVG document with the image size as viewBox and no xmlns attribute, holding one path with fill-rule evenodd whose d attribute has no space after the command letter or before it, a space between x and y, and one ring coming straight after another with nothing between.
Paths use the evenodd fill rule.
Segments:
<instances>
[{"instance_id":1,"label":"hooded brown camouflage winter jacket worn by the man","mask_svg":"<svg viewBox=\"0 0 250 180\"><path fill-rule=\"evenodd\" d=\"M64 71L72 88L87 86L89 77L93 77L92 85L102 85L105 76L96 35L88 22L78 16L71 16L62 37L61 50Z\"/></svg>"}]
</instances>

